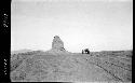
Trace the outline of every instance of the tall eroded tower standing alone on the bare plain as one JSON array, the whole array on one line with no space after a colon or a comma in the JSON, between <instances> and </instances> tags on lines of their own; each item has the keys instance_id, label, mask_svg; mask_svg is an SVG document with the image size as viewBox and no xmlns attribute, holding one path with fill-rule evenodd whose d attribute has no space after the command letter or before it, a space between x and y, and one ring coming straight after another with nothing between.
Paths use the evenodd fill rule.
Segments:
<instances>
[{"instance_id":1,"label":"tall eroded tower standing alone on the bare plain","mask_svg":"<svg viewBox=\"0 0 135 83\"><path fill-rule=\"evenodd\" d=\"M64 51L64 42L58 36L55 36L52 42L52 50Z\"/></svg>"}]
</instances>

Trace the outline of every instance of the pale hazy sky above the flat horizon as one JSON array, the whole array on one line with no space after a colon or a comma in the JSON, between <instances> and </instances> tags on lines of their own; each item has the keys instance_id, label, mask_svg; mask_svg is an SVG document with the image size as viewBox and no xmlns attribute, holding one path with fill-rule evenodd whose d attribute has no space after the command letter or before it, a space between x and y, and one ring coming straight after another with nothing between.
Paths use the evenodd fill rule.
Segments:
<instances>
[{"instance_id":1,"label":"pale hazy sky above the flat horizon","mask_svg":"<svg viewBox=\"0 0 135 83\"><path fill-rule=\"evenodd\" d=\"M12 0L11 51L48 51L54 36L69 52L132 50L133 1Z\"/></svg>"}]
</instances>

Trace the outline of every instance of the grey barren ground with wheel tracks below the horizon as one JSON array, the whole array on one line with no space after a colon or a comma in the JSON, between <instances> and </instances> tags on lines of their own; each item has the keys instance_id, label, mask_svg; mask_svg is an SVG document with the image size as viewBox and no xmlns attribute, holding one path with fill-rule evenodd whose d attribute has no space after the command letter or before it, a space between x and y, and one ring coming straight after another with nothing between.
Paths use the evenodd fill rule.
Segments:
<instances>
[{"instance_id":1,"label":"grey barren ground with wheel tracks below the horizon","mask_svg":"<svg viewBox=\"0 0 135 83\"><path fill-rule=\"evenodd\" d=\"M132 82L132 51L11 55L12 82Z\"/></svg>"}]
</instances>

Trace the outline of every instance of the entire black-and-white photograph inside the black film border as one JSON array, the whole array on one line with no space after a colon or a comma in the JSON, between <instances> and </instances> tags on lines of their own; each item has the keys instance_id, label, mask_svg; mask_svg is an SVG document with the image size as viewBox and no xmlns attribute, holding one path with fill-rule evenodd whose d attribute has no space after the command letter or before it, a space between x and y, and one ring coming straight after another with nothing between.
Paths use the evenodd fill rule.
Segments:
<instances>
[{"instance_id":1,"label":"entire black-and-white photograph inside the black film border","mask_svg":"<svg viewBox=\"0 0 135 83\"><path fill-rule=\"evenodd\" d=\"M133 0L12 0L11 82L132 83Z\"/></svg>"}]
</instances>

